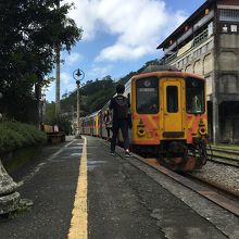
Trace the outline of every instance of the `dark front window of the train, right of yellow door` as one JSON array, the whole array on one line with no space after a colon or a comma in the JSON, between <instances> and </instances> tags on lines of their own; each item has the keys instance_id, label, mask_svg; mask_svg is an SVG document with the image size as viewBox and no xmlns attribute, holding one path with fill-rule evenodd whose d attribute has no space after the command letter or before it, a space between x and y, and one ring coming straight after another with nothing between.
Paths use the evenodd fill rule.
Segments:
<instances>
[{"instance_id":1,"label":"dark front window of the train, right of yellow door","mask_svg":"<svg viewBox=\"0 0 239 239\"><path fill-rule=\"evenodd\" d=\"M190 114L204 112L204 81L197 78L186 79L186 108Z\"/></svg>"}]
</instances>

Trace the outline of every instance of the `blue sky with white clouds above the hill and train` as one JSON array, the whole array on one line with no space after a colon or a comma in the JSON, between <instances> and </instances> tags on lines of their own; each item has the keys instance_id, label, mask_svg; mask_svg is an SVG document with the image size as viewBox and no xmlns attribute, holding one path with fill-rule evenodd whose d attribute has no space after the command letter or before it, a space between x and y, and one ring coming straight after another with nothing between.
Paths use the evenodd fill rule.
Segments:
<instances>
[{"instance_id":1,"label":"blue sky with white clouds above the hill and train","mask_svg":"<svg viewBox=\"0 0 239 239\"><path fill-rule=\"evenodd\" d=\"M81 84L110 75L115 81L161 59L156 47L205 0L64 0L74 2L68 16L83 28L71 54L61 52L61 97L76 89L73 72L85 73ZM50 76L55 77L55 71ZM55 81L46 91L55 101Z\"/></svg>"}]
</instances>

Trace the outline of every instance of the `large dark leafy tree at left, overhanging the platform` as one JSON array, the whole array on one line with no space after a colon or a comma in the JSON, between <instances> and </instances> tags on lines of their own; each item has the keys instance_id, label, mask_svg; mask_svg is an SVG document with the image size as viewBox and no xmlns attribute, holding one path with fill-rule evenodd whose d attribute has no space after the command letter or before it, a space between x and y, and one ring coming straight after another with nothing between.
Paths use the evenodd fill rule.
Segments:
<instances>
[{"instance_id":1,"label":"large dark leafy tree at left, overhanging the platform","mask_svg":"<svg viewBox=\"0 0 239 239\"><path fill-rule=\"evenodd\" d=\"M1 0L0 2L0 108L16 120L37 104L39 88L49 81L55 47L71 51L81 29L67 17L72 4L55 0ZM33 87L35 86L35 91Z\"/></svg>"}]
</instances>

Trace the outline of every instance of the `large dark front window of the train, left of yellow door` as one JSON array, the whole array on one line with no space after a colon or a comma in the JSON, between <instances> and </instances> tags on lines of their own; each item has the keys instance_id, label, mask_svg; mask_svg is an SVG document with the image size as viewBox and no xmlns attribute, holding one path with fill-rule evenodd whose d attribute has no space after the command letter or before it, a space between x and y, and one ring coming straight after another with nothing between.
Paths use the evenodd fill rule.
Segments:
<instances>
[{"instance_id":1,"label":"large dark front window of the train, left of yellow door","mask_svg":"<svg viewBox=\"0 0 239 239\"><path fill-rule=\"evenodd\" d=\"M159 79L156 77L136 81L136 110L138 114L159 112Z\"/></svg>"}]
</instances>

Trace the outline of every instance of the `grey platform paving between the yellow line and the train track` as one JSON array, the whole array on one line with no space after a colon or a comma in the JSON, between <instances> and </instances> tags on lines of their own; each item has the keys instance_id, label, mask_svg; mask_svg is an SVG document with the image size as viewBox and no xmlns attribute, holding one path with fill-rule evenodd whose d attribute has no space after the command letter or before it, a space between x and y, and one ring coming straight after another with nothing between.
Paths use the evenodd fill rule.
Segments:
<instances>
[{"instance_id":1,"label":"grey platform paving between the yellow line and the train track","mask_svg":"<svg viewBox=\"0 0 239 239\"><path fill-rule=\"evenodd\" d=\"M109 142L87 141L89 238L237 238L237 216L121 148L112 156Z\"/></svg>"}]
</instances>

